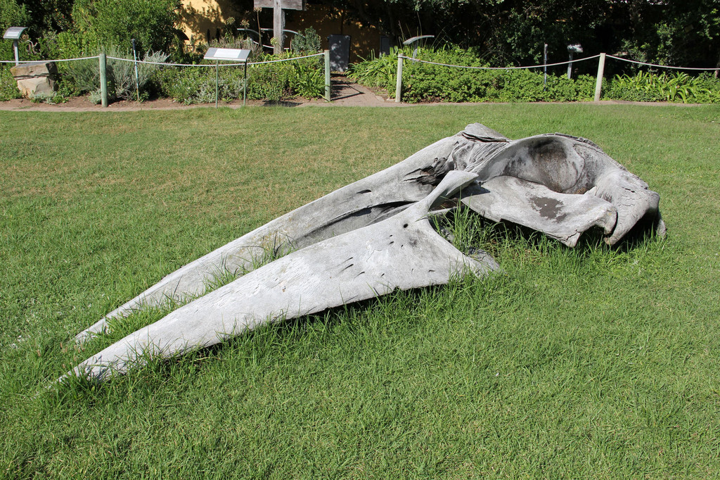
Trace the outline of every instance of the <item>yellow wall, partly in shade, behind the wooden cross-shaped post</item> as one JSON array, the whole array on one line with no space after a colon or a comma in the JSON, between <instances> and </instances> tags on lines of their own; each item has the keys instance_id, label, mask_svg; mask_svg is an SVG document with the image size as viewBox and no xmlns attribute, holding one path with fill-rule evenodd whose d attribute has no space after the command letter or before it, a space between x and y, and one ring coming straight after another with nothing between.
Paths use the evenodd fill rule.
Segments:
<instances>
[{"instance_id":1,"label":"yellow wall, partly in shade, behind the wooden cross-shaped post","mask_svg":"<svg viewBox=\"0 0 720 480\"><path fill-rule=\"evenodd\" d=\"M228 18L248 19L250 28L257 30L257 14L253 11L238 12L228 0L182 0L181 29L195 43L207 42L207 31L215 38L218 31L225 28ZM270 9L266 9L270 10ZM300 32L313 27L322 39L322 48L328 48L328 35L350 35L350 61L358 57L368 57L374 50L377 54L380 46L380 31L375 27L363 26L359 22L345 18L343 12L324 5L308 5L305 11L286 10L285 28ZM266 15L269 17L269 15ZM272 27L271 20L268 25ZM269 39L264 40L269 43ZM285 46L289 46L286 40Z\"/></svg>"}]
</instances>

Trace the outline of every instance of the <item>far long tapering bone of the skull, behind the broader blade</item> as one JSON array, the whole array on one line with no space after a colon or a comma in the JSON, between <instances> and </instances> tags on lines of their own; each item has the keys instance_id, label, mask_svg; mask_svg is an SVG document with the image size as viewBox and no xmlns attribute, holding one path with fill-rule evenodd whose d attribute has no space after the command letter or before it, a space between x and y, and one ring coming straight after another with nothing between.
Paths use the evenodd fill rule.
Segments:
<instances>
[{"instance_id":1,"label":"far long tapering bone of the skull, behind the broader blade","mask_svg":"<svg viewBox=\"0 0 720 480\"><path fill-rule=\"evenodd\" d=\"M342 187L240 236L163 277L80 332L76 340L82 342L105 332L109 319L127 316L145 306L161 305L168 298L182 300L199 295L213 277L225 270L252 270L253 260L262 257L266 249L278 249L279 252L301 249L369 225L388 210L417 202L431 192L433 182L407 181L408 176L427 179L429 174L423 174L423 170L428 169L433 159L446 158L455 143L452 137L444 138L400 164Z\"/></svg>"}]
</instances>

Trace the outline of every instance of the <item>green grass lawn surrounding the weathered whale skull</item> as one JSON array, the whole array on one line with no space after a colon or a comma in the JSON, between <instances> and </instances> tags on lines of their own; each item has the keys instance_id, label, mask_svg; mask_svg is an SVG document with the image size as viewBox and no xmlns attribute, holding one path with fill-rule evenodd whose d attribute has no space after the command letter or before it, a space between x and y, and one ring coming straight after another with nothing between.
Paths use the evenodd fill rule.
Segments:
<instances>
[{"instance_id":1,"label":"green grass lawn surrounding the weathered whale skull","mask_svg":"<svg viewBox=\"0 0 720 480\"><path fill-rule=\"evenodd\" d=\"M45 389L163 275L472 122L590 138L667 239L485 226L504 275ZM719 162L719 106L0 112L0 477L720 476Z\"/></svg>"}]
</instances>

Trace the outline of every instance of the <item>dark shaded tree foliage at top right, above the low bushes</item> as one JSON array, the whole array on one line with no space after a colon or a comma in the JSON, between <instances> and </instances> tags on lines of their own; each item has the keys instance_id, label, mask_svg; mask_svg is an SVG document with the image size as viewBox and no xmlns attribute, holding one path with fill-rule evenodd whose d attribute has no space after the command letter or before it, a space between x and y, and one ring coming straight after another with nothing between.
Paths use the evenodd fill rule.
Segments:
<instances>
[{"instance_id":1,"label":"dark shaded tree foliage at top right, above the low bushes","mask_svg":"<svg viewBox=\"0 0 720 480\"><path fill-rule=\"evenodd\" d=\"M483 59L499 66L538 63L544 44L552 61L563 61L571 43L580 43L591 55L720 65L717 0L319 1L339 6L345 17L375 25L396 40L436 35L436 45L478 48Z\"/></svg>"}]
</instances>

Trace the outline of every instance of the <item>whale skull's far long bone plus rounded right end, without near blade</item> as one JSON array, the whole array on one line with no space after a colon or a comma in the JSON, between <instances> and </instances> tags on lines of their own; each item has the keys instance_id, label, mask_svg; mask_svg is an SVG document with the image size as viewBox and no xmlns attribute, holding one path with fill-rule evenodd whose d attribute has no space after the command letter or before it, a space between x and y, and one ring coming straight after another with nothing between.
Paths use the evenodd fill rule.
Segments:
<instances>
[{"instance_id":1,"label":"whale skull's far long bone plus rounded right end, without near blade","mask_svg":"<svg viewBox=\"0 0 720 480\"><path fill-rule=\"evenodd\" d=\"M594 143L562 134L510 141L475 123L189 263L76 339L104 332L108 319L143 306L199 295L218 272L251 270L253 257L267 249L302 249L391 218L428 195L453 170L476 172L484 182L462 192L464 202L481 215L535 228L570 246L592 226L603 228L608 244L616 244L642 218L654 221L659 234L665 232L657 193Z\"/></svg>"}]
</instances>

